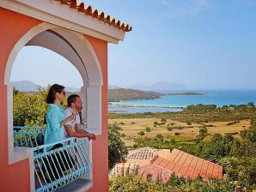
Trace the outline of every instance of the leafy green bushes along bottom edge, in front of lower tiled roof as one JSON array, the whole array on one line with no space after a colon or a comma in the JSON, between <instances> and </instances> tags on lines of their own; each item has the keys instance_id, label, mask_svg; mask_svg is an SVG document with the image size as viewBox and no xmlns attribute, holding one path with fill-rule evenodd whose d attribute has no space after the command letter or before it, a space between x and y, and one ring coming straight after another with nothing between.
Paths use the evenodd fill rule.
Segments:
<instances>
[{"instance_id":1,"label":"leafy green bushes along bottom edge, in front of lower tiled roof","mask_svg":"<svg viewBox=\"0 0 256 192\"><path fill-rule=\"evenodd\" d=\"M162 183L162 178L157 177L156 181L147 180L137 174L123 174L110 179L110 192L233 192L234 184L230 183L229 178L223 181L204 182L200 178L195 181L186 181L183 177L176 177L174 174L168 182Z\"/></svg>"}]
</instances>

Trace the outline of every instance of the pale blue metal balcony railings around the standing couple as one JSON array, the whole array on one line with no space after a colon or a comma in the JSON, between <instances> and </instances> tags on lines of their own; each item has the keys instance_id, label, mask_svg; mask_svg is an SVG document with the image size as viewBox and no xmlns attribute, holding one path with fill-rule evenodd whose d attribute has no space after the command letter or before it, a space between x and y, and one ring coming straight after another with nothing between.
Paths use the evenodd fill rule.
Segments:
<instances>
[{"instance_id":1,"label":"pale blue metal balcony railings around the standing couple","mask_svg":"<svg viewBox=\"0 0 256 192\"><path fill-rule=\"evenodd\" d=\"M34 189L76 191L91 183L92 165L88 157L88 140L67 138L43 144L43 128L14 127L15 148L29 147L34 152ZM53 147L54 146L54 147ZM52 147L52 150L46 150ZM54 148L54 149L53 149Z\"/></svg>"}]
</instances>

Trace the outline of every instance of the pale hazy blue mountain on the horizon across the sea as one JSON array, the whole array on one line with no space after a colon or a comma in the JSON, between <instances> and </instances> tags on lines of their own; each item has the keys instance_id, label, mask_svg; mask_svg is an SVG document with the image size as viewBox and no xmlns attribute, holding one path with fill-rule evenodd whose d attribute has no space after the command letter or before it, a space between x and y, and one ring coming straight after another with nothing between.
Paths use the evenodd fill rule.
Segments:
<instances>
[{"instance_id":1,"label":"pale hazy blue mountain on the horizon across the sea","mask_svg":"<svg viewBox=\"0 0 256 192\"><path fill-rule=\"evenodd\" d=\"M145 86L142 84L135 84L128 88L139 89L139 90L143 90L143 91L162 91L162 90L186 89L186 86L184 84L170 83L167 81L162 81L162 82L156 82L150 86Z\"/></svg>"}]
</instances>

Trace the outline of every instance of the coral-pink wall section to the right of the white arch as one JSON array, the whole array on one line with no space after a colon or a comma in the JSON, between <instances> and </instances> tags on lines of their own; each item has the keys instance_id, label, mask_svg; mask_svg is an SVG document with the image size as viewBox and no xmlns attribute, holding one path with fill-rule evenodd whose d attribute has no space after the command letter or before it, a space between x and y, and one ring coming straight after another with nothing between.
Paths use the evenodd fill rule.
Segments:
<instances>
[{"instance_id":1,"label":"coral-pink wall section to the right of the white arch","mask_svg":"<svg viewBox=\"0 0 256 192\"><path fill-rule=\"evenodd\" d=\"M103 76L102 94L102 135L93 141L93 180L94 188L89 192L108 191L108 145L107 145L107 42L86 36L101 63Z\"/></svg>"}]
</instances>

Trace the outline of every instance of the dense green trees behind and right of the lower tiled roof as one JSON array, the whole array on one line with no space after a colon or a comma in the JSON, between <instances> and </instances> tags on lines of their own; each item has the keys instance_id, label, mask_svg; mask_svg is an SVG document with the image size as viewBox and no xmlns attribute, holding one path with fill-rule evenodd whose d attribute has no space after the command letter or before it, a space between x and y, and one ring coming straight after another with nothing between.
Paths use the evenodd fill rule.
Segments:
<instances>
[{"instance_id":1,"label":"dense green trees behind and right of the lower tiled roof","mask_svg":"<svg viewBox=\"0 0 256 192\"><path fill-rule=\"evenodd\" d=\"M179 141L167 135L156 135L154 138L139 137L135 139L134 147L179 148L186 153L220 163L223 165L226 177L229 177L236 186L245 187L247 191L256 189L255 112L252 116L251 127L241 131L241 138L235 138L234 134L216 134L205 141L204 137L208 135L205 125L199 130L199 134L198 139L191 141Z\"/></svg>"}]
</instances>

